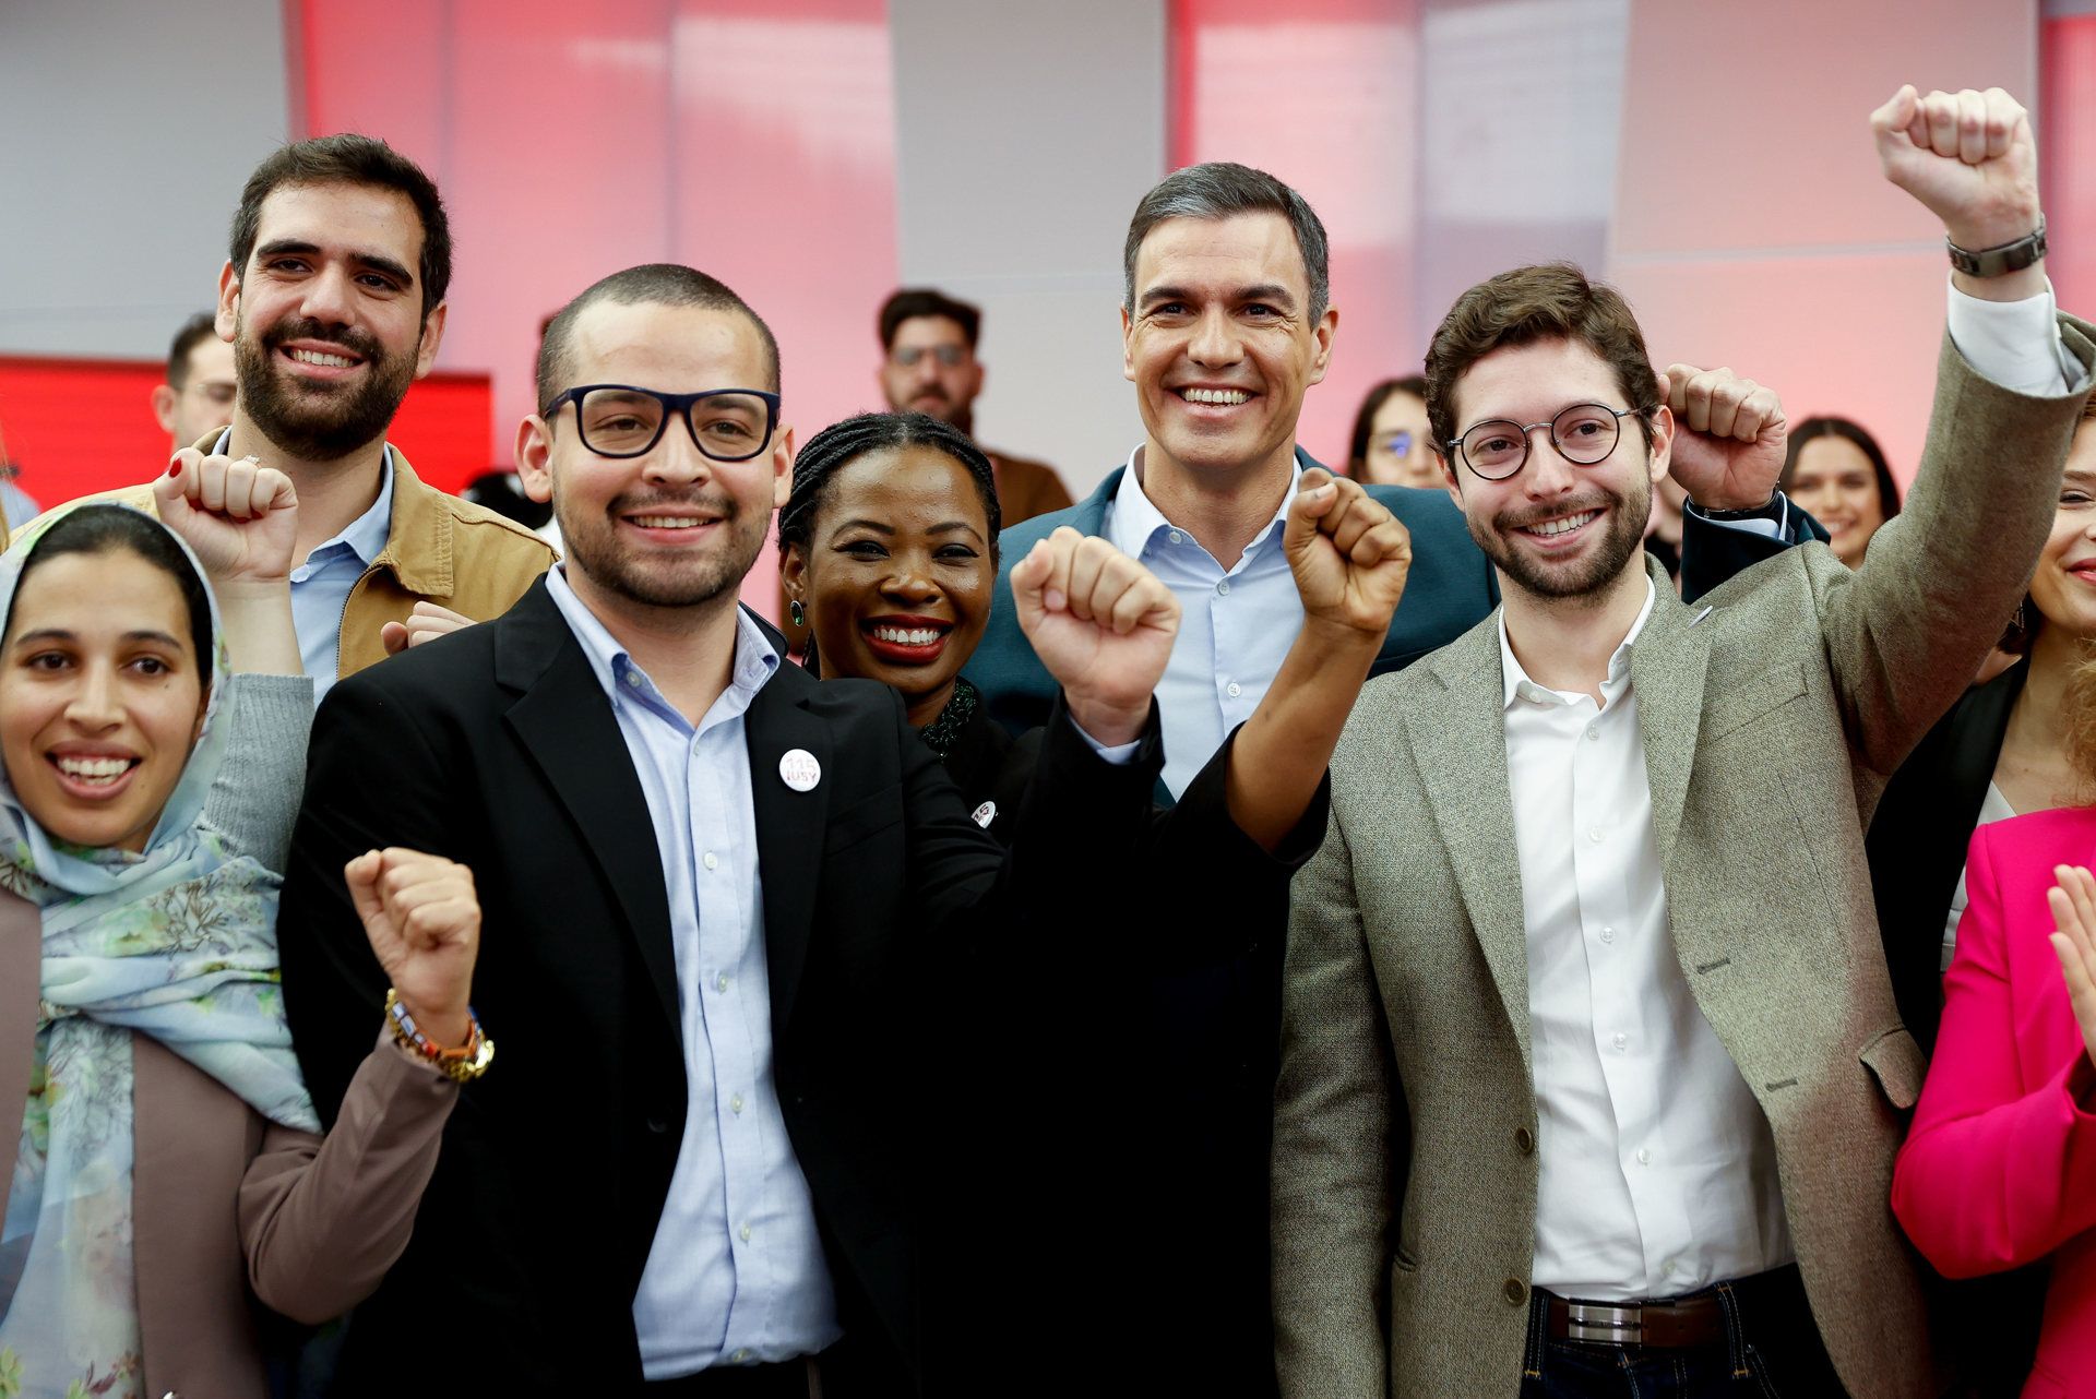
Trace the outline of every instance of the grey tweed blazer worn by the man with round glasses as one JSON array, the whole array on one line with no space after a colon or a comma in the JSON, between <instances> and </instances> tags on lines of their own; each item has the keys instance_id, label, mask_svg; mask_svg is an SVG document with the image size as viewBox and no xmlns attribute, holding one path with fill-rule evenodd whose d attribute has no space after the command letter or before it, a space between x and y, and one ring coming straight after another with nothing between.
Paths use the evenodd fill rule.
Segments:
<instances>
[{"instance_id":1,"label":"grey tweed blazer worn by the man with round glasses","mask_svg":"<svg viewBox=\"0 0 2096 1399\"><path fill-rule=\"evenodd\" d=\"M1700 607L1654 574L1631 649L1675 955L1769 1120L1855 1395L1941 1393L1888 1204L1922 1053L1863 827L2023 595L2077 410L1987 383L1945 339L1920 475L1863 570L1809 545ZM1503 700L1497 620L1371 681L1293 886L1272 1179L1291 1399L1522 1384L1538 1123Z\"/></svg>"}]
</instances>

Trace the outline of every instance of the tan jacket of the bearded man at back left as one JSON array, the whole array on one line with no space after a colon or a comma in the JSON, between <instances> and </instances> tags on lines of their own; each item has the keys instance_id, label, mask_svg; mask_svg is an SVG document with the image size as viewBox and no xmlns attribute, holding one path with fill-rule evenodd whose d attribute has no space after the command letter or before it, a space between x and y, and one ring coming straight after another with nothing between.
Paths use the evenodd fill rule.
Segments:
<instances>
[{"instance_id":1,"label":"tan jacket of the bearded man at back left","mask_svg":"<svg viewBox=\"0 0 2096 1399\"><path fill-rule=\"evenodd\" d=\"M210 452L216 444L214 431L197 442L197 450ZM350 601L342 609L337 676L386 660L379 628L386 622L407 622L415 603L438 603L486 622L509 612L524 589L553 565L553 547L524 526L425 486L400 448L392 448L392 459L394 509L386 549L350 589ZM88 498L122 501L157 513L151 486L126 486Z\"/></svg>"}]
</instances>

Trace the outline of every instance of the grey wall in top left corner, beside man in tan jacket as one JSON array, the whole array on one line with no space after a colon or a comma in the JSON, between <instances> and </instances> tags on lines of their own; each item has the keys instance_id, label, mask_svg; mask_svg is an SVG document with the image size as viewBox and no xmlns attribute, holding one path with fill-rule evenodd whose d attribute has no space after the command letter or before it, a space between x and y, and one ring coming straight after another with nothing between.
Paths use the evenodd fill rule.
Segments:
<instances>
[{"instance_id":1,"label":"grey wall in top left corner, beside man in tan jacket","mask_svg":"<svg viewBox=\"0 0 2096 1399\"><path fill-rule=\"evenodd\" d=\"M157 358L287 134L279 0L0 0L0 352Z\"/></svg>"}]
</instances>

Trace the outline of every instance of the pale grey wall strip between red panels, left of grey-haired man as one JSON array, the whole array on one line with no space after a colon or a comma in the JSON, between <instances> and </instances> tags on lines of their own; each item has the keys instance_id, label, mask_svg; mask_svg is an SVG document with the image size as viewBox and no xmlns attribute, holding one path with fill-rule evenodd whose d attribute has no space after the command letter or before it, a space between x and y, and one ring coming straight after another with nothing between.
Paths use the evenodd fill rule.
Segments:
<instances>
[{"instance_id":1,"label":"pale grey wall strip between red panels, left of grey-haired man","mask_svg":"<svg viewBox=\"0 0 2096 1399\"><path fill-rule=\"evenodd\" d=\"M889 25L903 283L983 308L977 436L1084 496L1142 438L1117 308L1165 174L1165 4L889 0Z\"/></svg>"}]
</instances>

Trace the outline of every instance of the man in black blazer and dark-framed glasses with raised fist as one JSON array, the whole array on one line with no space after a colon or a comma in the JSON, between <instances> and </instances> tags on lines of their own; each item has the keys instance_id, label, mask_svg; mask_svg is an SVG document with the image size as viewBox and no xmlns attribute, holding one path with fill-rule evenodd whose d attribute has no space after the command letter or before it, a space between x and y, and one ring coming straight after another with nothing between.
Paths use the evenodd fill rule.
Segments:
<instances>
[{"instance_id":1,"label":"man in black blazer and dark-framed glasses with raised fist","mask_svg":"<svg viewBox=\"0 0 2096 1399\"><path fill-rule=\"evenodd\" d=\"M388 991L342 878L365 850L472 867L499 1045L337 1391L914 1393L920 1146L956 1110L926 1068L968 1051L941 989L1077 936L1069 871L1149 806L1178 605L1096 540L1019 570L1069 689L1002 859L893 691L817 687L736 603L792 461L757 314L620 272L555 316L539 390L518 459L568 561L314 723L283 986L323 1120Z\"/></svg>"}]
</instances>

